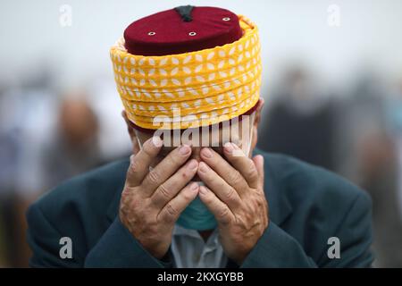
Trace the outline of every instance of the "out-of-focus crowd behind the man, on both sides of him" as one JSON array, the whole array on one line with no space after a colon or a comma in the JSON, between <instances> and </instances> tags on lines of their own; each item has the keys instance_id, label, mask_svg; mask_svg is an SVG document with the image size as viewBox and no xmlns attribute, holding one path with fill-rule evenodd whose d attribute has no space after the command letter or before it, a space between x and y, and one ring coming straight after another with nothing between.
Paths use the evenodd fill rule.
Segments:
<instances>
[{"instance_id":1,"label":"out-of-focus crowd behind the man, on both sides of him","mask_svg":"<svg viewBox=\"0 0 402 286\"><path fill-rule=\"evenodd\" d=\"M402 267L402 80L362 74L345 94L322 92L290 67L270 95L258 147L354 181L373 198L375 266ZM0 86L0 266L27 266L25 211L61 181L130 155L111 80L56 91L46 72Z\"/></svg>"}]
</instances>

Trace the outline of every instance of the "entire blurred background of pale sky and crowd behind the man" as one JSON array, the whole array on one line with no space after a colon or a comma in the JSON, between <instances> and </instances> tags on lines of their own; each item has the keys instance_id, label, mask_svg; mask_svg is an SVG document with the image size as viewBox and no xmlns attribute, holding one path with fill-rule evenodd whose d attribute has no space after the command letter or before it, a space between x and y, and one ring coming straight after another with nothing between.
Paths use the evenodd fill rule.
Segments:
<instances>
[{"instance_id":1,"label":"entire blurred background of pale sky and crowd behind the man","mask_svg":"<svg viewBox=\"0 0 402 286\"><path fill-rule=\"evenodd\" d=\"M374 266L402 267L402 2L37 0L0 9L0 266L27 266L27 206L130 154L109 48L138 18L222 6L260 29L258 147L373 198Z\"/></svg>"}]
</instances>

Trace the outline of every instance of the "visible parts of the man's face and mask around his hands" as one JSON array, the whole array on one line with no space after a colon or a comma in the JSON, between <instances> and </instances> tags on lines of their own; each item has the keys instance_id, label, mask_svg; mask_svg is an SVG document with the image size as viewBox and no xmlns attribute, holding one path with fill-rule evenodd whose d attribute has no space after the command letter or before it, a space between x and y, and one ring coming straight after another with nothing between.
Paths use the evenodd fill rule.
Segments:
<instances>
[{"instance_id":1,"label":"visible parts of the man's face and mask around his hands","mask_svg":"<svg viewBox=\"0 0 402 286\"><path fill-rule=\"evenodd\" d=\"M196 160L198 164L203 161L200 154L203 147L210 148L214 151L216 156L220 156L222 160L226 160L223 147L230 142L234 143L236 147L239 147L239 150L235 151L235 153L237 153L235 156L251 157L252 149L254 149L256 143L256 136L253 135L256 134L257 121L259 121L262 105L263 103L259 103L259 108L252 114L244 115L241 119L235 118L231 122L224 122L220 125L215 124L214 126L207 126L206 128L188 130L164 130L159 133L158 131L145 132L136 130L132 127L128 119L125 119L128 123L135 154L142 149L148 139L152 139L155 136L162 138L163 145L158 155L155 156L155 159L149 166L149 169L152 170L175 148L182 145L188 146L191 149L191 155L188 161ZM196 181L198 185L205 185L205 182L200 179L197 173L191 181ZM194 199L180 215L178 223L183 227L198 231L214 229L214 227L216 227L214 214L209 212L198 197Z\"/></svg>"}]
</instances>

